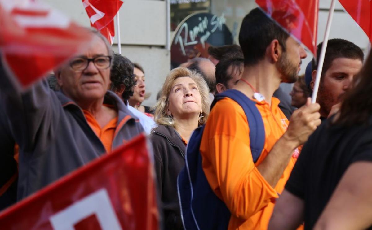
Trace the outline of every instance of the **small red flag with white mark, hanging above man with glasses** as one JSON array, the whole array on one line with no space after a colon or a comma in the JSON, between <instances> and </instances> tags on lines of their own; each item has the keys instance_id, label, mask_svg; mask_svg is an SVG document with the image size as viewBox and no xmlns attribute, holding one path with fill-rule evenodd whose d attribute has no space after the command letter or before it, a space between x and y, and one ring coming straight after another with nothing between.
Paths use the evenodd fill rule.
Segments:
<instances>
[{"instance_id":1,"label":"small red flag with white mark, hanging above man with glasses","mask_svg":"<svg viewBox=\"0 0 372 230\"><path fill-rule=\"evenodd\" d=\"M82 0L90 25L99 30L112 44L115 36L113 19L123 2L121 0Z\"/></svg>"}]
</instances>

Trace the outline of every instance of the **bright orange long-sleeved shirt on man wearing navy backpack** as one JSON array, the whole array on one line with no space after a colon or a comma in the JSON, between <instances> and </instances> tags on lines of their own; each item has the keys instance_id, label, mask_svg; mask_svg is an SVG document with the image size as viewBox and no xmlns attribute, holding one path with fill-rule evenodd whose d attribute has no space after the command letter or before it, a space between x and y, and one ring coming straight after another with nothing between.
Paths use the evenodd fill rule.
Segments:
<instances>
[{"instance_id":1,"label":"bright orange long-sleeved shirt on man wearing navy backpack","mask_svg":"<svg viewBox=\"0 0 372 230\"><path fill-rule=\"evenodd\" d=\"M292 156L275 188L256 168L288 127L288 119L272 98L271 107L257 102L265 129L263 152L256 163L250 150L249 127L243 108L234 100L224 98L212 109L201 142L203 170L209 185L231 212L229 230L267 229L278 198L298 157Z\"/></svg>"}]
</instances>

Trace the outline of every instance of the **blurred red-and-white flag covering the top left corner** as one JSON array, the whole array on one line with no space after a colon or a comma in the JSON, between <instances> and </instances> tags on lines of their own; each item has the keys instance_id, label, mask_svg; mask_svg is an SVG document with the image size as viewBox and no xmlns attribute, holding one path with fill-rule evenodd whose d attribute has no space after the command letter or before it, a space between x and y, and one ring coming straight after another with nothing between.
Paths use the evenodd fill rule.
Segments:
<instances>
[{"instance_id":1,"label":"blurred red-and-white flag covering the top left corner","mask_svg":"<svg viewBox=\"0 0 372 230\"><path fill-rule=\"evenodd\" d=\"M83 50L92 35L58 11L27 0L0 0L3 66L25 88Z\"/></svg>"}]
</instances>

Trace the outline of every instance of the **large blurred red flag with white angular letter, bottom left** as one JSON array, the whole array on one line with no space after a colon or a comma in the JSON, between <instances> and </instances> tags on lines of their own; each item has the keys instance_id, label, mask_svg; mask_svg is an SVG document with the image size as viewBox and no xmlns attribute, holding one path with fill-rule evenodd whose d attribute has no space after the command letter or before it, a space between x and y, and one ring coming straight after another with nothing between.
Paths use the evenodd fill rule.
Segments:
<instances>
[{"instance_id":1,"label":"large blurred red flag with white angular letter, bottom left","mask_svg":"<svg viewBox=\"0 0 372 230\"><path fill-rule=\"evenodd\" d=\"M0 213L1 229L157 230L153 167L135 138Z\"/></svg>"}]
</instances>

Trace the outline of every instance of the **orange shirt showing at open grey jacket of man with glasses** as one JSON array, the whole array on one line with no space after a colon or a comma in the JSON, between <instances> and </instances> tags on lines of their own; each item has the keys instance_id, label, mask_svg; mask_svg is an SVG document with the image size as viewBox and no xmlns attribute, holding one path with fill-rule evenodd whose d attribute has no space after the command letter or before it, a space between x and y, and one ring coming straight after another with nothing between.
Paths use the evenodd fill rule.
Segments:
<instances>
[{"instance_id":1,"label":"orange shirt showing at open grey jacket of man with glasses","mask_svg":"<svg viewBox=\"0 0 372 230\"><path fill-rule=\"evenodd\" d=\"M101 128L97 120L89 111L83 110L83 112L89 126L93 129L94 133L96 133L97 137L101 140L103 146L105 146L106 152L107 153L110 152L112 141L115 135L116 125L118 123L118 116L110 120L109 123L105 125L105 127Z\"/></svg>"}]
</instances>

